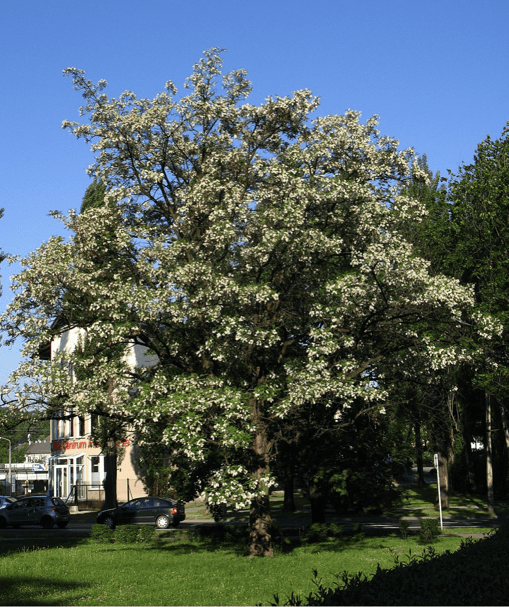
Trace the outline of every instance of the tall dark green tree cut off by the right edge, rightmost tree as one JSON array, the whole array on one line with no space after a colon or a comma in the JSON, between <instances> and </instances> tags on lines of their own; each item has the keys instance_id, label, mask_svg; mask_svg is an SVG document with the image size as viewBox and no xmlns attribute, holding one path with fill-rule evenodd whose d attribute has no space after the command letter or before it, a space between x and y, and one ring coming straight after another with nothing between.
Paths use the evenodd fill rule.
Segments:
<instances>
[{"instance_id":1,"label":"tall dark green tree cut off by the right edge, rightmost tree","mask_svg":"<svg viewBox=\"0 0 509 607\"><path fill-rule=\"evenodd\" d=\"M474 387L485 393L488 501L493 507L493 419L500 420L503 432L498 434L505 435L506 468L509 454L509 123L499 139L488 135L478 145L474 161L451 176L448 199L452 205L452 263L458 277L474 285L477 308L496 319L501 329L490 341L489 356L473 378ZM505 485L507 493L507 479Z\"/></svg>"}]
</instances>

